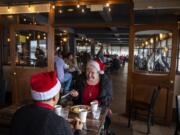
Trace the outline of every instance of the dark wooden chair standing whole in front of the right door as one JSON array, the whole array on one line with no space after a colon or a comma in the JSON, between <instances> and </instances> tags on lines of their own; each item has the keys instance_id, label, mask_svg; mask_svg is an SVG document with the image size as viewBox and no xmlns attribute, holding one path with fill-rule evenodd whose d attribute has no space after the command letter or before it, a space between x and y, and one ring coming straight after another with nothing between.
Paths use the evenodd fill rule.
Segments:
<instances>
[{"instance_id":1,"label":"dark wooden chair standing whole in front of the right door","mask_svg":"<svg viewBox=\"0 0 180 135\"><path fill-rule=\"evenodd\" d=\"M134 114L135 118L137 117L139 111L146 112L147 115L147 134L150 133L150 126L154 122L154 106L157 101L157 98L160 93L160 88L155 88L153 90L151 100L149 103L145 103L142 101L136 101L132 100L131 103L129 104L129 119L128 119L128 127L130 127L131 124L131 118L132 114Z\"/></svg>"}]
</instances>

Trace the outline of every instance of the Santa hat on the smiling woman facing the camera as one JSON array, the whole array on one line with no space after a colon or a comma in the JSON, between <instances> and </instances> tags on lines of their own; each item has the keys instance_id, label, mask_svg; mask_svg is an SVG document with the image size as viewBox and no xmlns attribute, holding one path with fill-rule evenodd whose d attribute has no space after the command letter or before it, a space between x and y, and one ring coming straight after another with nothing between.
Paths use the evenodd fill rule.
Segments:
<instances>
[{"instance_id":1,"label":"Santa hat on the smiling woman facing the camera","mask_svg":"<svg viewBox=\"0 0 180 135\"><path fill-rule=\"evenodd\" d=\"M99 74L104 74L105 65L100 60L90 60L87 63L87 67L93 66L97 69Z\"/></svg>"}]
</instances>

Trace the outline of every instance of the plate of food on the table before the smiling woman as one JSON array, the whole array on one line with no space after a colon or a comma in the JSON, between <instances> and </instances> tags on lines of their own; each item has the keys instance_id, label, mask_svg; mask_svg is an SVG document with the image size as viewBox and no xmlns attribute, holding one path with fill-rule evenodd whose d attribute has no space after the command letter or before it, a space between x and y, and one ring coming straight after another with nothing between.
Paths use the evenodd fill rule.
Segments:
<instances>
[{"instance_id":1,"label":"plate of food on the table before the smiling woman","mask_svg":"<svg viewBox=\"0 0 180 135\"><path fill-rule=\"evenodd\" d=\"M81 111L91 111L91 107L88 105L75 105L70 108L71 112L80 113Z\"/></svg>"}]
</instances>

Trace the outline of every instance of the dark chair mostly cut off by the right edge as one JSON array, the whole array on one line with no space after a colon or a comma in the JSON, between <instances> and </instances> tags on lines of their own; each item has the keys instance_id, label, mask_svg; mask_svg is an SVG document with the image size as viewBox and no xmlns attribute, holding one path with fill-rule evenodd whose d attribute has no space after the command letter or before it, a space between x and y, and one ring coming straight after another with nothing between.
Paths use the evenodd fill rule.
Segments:
<instances>
[{"instance_id":1,"label":"dark chair mostly cut off by the right edge","mask_svg":"<svg viewBox=\"0 0 180 135\"><path fill-rule=\"evenodd\" d=\"M176 130L174 135L178 135L180 131L180 95L176 96Z\"/></svg>"}]
</instances>

